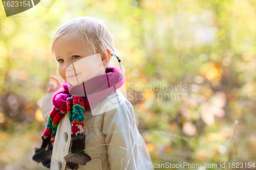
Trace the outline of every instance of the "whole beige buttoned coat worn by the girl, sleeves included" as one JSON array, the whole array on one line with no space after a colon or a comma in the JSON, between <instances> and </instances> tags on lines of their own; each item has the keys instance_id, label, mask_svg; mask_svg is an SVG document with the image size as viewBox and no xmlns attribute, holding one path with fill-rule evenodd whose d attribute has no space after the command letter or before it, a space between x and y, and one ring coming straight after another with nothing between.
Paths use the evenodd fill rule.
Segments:
<instances>
[{"instance_id":1,"label":"whole beige buttoned coat worn by the girl, sleeves included","mask_svg":"<svg viewBox=\"0 0 256 170\"><path fill-rule=\"evenodd\" d=\"M86 165L79 165L78 170L153 169L150 168L152 160L146 143L135 122L133 106L119 90L116 92L108 95L92 111L84 113L86 134L84 152L90 155L92 160ZM54 92L48 93L37 102L45 125L53 107L51 100L53 94ZM51 170L68 170L63 157L70 152L70 129L69 117L66 114L57 128L53 143Z\"/></svg>"}]
</instances>

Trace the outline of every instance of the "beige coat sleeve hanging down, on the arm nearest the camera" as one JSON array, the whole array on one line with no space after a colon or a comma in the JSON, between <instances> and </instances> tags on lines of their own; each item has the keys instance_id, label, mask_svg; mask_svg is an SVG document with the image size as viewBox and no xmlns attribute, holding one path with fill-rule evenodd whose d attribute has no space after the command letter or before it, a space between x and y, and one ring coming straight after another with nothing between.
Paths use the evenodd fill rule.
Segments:
<instances>
[{"instance_id":1,"label":"beige coat sleeve hanging down, on the arm nearest the camera","mask_svg":"<svg viewBox=\"0 0 256 170\"><path fill-rule=\"evenodd\" d=\"M105 134L109 163L113 170L137 169L133 152L136 148L133 132L136 124L130 107L123 103L103 116L102 133Z\"/></svg>"}]
</instances>

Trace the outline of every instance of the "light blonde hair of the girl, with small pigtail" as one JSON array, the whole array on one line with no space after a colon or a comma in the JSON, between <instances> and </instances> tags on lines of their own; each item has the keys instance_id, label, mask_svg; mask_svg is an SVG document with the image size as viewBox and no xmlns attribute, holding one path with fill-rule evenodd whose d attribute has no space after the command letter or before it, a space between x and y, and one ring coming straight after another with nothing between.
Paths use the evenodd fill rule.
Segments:
<instances>
[{"instance_id":1,"label":"light blonde hair of the girl, with small pigtail","mask_svg":"<svg viewBox=\"0 0 256 170\"><path fill-rule=\"evenodd\" d=\"M100 52L104 52L106 56L108 56L105 48L109 48L112 55L116 56L117 59L119 53L114 46L113 37L114 35L108 29L108 22L105 20L97 19L91 16L83 16L71 19L65 23L62 23L53 36L52 40L52 55L55 56L54 53L54 42L58 37L63 37L67 34L70 36L75 36L78 38L78 42L85 42L88 47L88 51L94 51L94 54L98 54ZM110 62L108 62L107 66ZM119 62L122 74L124 74L124 68Z\"/></svg>"}]
</instances>

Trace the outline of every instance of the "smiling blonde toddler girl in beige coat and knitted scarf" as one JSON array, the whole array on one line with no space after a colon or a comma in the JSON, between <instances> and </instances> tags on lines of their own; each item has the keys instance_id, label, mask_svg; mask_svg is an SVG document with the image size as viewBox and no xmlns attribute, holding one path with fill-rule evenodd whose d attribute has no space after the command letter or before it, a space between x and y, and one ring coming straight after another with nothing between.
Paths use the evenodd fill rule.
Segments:
<instances>
[{"instance_id":1,"label":"smiling blonde toddler girl in beige coat and knitted scarf","mask_svg":"<svg viewBox=\"0 0 256 170\"><path fill-rule=\"evenodd\" d=\"M63 23L52 54L64 82L53 76L57 86L50 83L38 101L46 130L33 160L50 169L153 169L133 106L118 90L124 69L105 23L93 17ZM122 71L109 66L112 56Z\"/></svg>"}]
</instances>

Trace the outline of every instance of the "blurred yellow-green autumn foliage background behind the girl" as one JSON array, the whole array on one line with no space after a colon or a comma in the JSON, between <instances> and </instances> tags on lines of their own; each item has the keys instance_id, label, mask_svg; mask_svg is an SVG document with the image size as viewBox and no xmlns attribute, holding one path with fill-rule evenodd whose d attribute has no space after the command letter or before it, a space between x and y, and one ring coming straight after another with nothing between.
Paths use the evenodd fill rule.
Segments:
<instances>
[{"instance_id":1,"label":"blurred yellow-green autumn foliage background behind the girl","mask_svg":"<svg viewBox=\"0 0 256 170\"><path fill-rule=\"evenodd\" d=\"M31 159L45 129L36 102L58 76L56 27L78 16L110 22L153 163L256 162L255 1L42 0L11 17L0 5L1 170L42 168Z\"/></svg>"}]
</instances>

